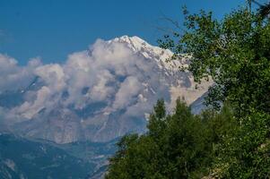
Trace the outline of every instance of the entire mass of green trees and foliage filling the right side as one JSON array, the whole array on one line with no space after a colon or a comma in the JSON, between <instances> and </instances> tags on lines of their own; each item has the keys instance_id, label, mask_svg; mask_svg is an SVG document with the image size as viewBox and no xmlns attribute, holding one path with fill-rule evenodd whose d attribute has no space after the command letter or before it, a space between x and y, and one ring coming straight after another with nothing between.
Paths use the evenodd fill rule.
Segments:
<instances>
[{"instance_id":1,"label":"entire mass of green trees and foliage filling the right side","mask_svg":"<svg viewBox=\"0 0 270 179\"><path fill-rule=\"evenodd\" d=\"M158 101L149 131L119 141L106 177L270 178L269 19L248 9L222 21L204 11L185 15L186 29L166 35L161 47L174 58L191 55L182 70L196 81L213 79L206 101L214 109L192 115L178 100L166 115Z\"/></svg>"}]
</instances>

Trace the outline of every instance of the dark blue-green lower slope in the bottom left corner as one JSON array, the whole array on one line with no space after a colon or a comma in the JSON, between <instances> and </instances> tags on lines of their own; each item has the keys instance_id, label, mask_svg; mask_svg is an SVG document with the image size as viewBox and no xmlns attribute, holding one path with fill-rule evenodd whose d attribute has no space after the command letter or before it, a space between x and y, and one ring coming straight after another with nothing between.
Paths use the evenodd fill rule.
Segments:
<instances>
[{"instance_id":1,"label":"dark blue-green lower slope in the bottom left corner","mask_svg":"<svg viewBox=\"0 0 270 179\"><path fill-rule=\"evenodd\" d=\"M58 145L1 134L0 178L86 178L104 172L114 151L114 141Z\"/></svg>"}]
</instances>

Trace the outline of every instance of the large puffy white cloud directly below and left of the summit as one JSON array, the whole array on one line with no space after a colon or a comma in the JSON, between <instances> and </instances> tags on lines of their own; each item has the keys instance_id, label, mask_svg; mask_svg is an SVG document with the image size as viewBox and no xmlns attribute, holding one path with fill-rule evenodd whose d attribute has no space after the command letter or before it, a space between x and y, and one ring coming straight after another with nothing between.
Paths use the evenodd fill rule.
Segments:
<instances>
[{"instance_id":1,"label":"large puffy white cloud directly below and left of the summit","mask_svg":"<svg viewBox=\"0 0 270 179\"><path fill-rule=\"evenodd\" d=\"M64 66L69 94L65 102L79 108L86 102L99 101L113 104L114 108L128 105L142 86L138 79L144 76L139 71L150 70L148 64L124 44L99 39L89 51L69 55ZM85 88L88 91L83 94Z\"/></svg>"}]
</instances>

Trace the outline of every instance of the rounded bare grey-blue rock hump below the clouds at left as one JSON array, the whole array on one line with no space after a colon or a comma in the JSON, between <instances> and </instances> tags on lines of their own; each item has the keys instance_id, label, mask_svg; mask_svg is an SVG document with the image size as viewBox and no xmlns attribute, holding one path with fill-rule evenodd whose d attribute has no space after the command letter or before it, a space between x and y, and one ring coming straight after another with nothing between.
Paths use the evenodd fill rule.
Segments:
<instances>
[{"instance_id":1,"label":"rounded bare grey-blue rock hump below the clouds at left","mask_svg":"<svg viewBox=\"0 0 270 179\"><path fill-rule=\"evenodd\" d=\"M46 139L57 143L69 143L83 140L80 119L68 109L56 107L44 109L29 121L14 125L14 132L25 137Z\"/></svg>"}]
</instances>

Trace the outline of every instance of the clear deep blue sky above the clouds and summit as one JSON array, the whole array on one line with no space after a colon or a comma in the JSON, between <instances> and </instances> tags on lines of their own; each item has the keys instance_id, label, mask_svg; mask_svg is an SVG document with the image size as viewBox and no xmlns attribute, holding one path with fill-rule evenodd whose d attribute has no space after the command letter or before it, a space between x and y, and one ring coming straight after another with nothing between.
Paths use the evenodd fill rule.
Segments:
<instances>
[{"instance_id":1,"label":"clear deep blue sky above the clouds and summit","mask_svg":"<svg viewBox=\"0 0 270 179\"><path fill-rule=\"evenodd\" d=\"M19 64L40 56L61 63L97 38L138 36L155 45L165 27L162 14L180 20L190 12L212 10L217 18L245 0L1 0L0 53Z\"/></svg>"}]
</instances>

